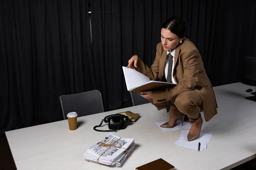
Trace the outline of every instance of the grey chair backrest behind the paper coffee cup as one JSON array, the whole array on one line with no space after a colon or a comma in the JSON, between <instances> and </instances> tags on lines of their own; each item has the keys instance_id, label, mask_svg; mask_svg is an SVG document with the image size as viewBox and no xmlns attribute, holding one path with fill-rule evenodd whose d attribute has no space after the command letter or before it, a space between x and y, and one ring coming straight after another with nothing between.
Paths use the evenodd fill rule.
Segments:
<instances>
[{"instance_id":1,"label":"grey chair backrest behind the paper coffee cup","mask_svg":"<svg viewBox=\"0 0 256 170\"><path fill-rule=\"evenodd\" d=\"M67 119L69 112L76 112L78 117L104 112L102 95L98 90L62 95L59 99L63 119Z\"/></svg>"}]
</instances>

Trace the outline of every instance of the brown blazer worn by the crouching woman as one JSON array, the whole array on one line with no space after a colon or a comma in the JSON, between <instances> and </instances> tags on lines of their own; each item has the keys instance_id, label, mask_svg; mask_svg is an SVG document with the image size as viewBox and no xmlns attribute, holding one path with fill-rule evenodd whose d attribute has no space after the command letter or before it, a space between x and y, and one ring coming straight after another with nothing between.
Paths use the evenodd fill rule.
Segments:
<instances>
[{"instance_id":1,"label":"brown blazer worn by the crouching woman","mask_svg":"<svg viewBox=\"0 0 256 170\"><path fill-rule=\"evenodd\" d=\"M167 51L160 42L157 44L156 57L151 67L139 58L136 70L151 80L161 80L164 76L166 57ZM173 77L178 85L164 91L152 91L154 104L164 99L173 102L180 93L194 90L202 98L205 121L208 122L217 114L215 94L204 69L204 63L198 49L189 39L184 38L176 47Z\"/></svg>"}]
</instances>

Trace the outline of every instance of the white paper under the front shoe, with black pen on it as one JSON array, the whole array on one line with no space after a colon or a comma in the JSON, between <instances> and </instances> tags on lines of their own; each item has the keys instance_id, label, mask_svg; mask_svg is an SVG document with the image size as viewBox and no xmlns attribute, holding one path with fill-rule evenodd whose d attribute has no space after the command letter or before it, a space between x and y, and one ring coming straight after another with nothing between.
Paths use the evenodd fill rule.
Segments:
<instances>
[{"instance_id":1,"label":"white paper under the front shoe, with black pen on it","mask_svg":"<svg viewBox=\"0 0 256 170\"><path fill-rule=\"evenodd\" d=\"M200 151L207 149L207 143L212 137L211 134L201 132L200 137L198 139L189 142L187 139L188 133L189 130L181 130L180 138L175 142L175 144L182 147L198 150L198 144L200 142Z\"/></svg>"}]
</instances>

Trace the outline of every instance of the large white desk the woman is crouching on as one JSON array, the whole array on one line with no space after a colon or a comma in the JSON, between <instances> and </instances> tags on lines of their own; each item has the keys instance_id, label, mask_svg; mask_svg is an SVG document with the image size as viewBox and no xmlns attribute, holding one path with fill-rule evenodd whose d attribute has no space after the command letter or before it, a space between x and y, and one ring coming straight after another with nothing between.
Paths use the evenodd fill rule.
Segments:
<instances>
[{"instance_id":1,"label":"large white desk the woman is crouching on","mask_svg":"<svg viewBox=\"0 0 256 170\"><path fill-rule=\"evenodd\" d=\"M120 170L135 170L159 158L177 170L230 169L256 157L256 102L244 99L250 96L247 88L255 90L241 83L214 88L218 114L203 123L201 131L213 136L202 152L174 145L180 130L160 130L154 123L168 120L169 114L165 109L157 111L151 103L79 117L83 124L75 131L70 131L64 120L8 131L6 136L17 170L110 170L114 168L85 161L83 154L108 134L94 131L94 125L109 114L130 110L142 117L125 130L113 132L134 138L137 144Z\"/></svg>"}]
</instances>

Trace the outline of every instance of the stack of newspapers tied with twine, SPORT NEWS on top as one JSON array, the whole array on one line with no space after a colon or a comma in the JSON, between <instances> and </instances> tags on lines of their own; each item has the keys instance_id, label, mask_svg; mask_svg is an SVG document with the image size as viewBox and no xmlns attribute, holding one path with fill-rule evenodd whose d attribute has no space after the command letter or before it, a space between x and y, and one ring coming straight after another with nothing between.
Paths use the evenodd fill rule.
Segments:
<instances>
[{"instance_id":1,"label":"stack of newspapers tied with twine, SPORT NEWS on top","mask_svg":"<svg viewBox=\"0 0 256 170\"><path fill-rule=\"evenodd\" d=\"M134 147L134 139L120 138L110 133L101 142L87 149L84 153L84 159L93 163L119 167L134 150Z\"/></svg>"}]
</instances>

